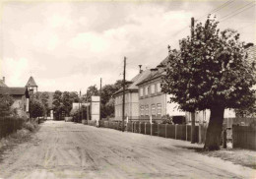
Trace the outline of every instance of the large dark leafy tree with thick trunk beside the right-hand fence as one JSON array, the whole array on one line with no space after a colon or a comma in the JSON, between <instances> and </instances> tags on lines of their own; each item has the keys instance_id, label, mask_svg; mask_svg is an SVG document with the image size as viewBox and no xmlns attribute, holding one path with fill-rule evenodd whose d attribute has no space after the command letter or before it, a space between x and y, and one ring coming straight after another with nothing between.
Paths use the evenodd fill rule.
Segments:
<instances>
[{"instance_id":1,"label":"large dark leafy tree with thick trunk beside the right-hand fence","mask_svg":"<svg viewBox=\"0 0 256 179\"><path fill-rule=\"evenodd\" d=\"M180 40L180 51L169 48L162 91L172 94L186 111L210 109L205 149L219 149L224 108L239 108L255 101L255 67L247 58L245 43L234 30L218 30L208 17L195 27L194 37ZM255 62L254 62L255 63Z\"/></svg>"}]
</instances>

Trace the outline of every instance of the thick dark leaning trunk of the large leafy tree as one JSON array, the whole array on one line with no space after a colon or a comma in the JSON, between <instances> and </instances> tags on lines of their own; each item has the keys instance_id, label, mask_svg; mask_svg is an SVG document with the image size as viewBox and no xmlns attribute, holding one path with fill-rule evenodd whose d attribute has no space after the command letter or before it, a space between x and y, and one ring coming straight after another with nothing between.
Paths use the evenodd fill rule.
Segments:
<instances>
[{"instance_id":1,"label":"thick dark leaning trunk of the large leafy tree","mask_svg":"<svg viewBox=\"0 0 256 179\"><path fill-rule=\"evenodd\" d=\"M206 134L204 149L220 149L221 135L224 123L224 106L213 106Z\"/></svg>"}]
</instances>

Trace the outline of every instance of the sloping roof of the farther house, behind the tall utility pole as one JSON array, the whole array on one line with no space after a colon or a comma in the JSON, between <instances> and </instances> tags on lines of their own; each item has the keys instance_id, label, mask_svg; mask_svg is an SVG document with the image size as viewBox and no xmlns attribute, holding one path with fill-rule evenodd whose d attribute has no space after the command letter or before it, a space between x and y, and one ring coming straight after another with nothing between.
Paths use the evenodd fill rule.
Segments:
<instances>
[{"instance_id":1,"label":"sloping roof of the farther house, behind the tall utility pole","mask_svg":"<svg viewBox=\"0 0 256 179\"><path fill-rule=\"evenodd\" d=\"M145 70L142 73L139 73L138 75L136 75L131 82L133 82L126 90L127 91L138 91L138 87L137 84L139 84L140 82L142 82L145 78L148 77L148 75L151 73L150 70ZM113 93L113 95L118 94L120 92L123 91L122 89L117 90L116 92Z\"/></svg>"}]
</instances>

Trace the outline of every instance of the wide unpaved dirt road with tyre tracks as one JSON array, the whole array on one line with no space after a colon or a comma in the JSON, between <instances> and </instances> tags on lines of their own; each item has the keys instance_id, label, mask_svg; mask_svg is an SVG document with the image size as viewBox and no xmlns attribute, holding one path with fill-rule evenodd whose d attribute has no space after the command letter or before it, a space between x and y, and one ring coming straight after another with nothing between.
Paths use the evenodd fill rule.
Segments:
<instances>
[{"instance_id":1,"label":"wide unpaved dirt road with tyre tracks","mask_svg":"<svg viewBox=\"0 0 256 179\"><path fill-rule=\"evenodd\" d=\"M256 178L256 170L180 146L191 144L47 121L5 152L0 178Z\"/></svg>"}]
</instances>

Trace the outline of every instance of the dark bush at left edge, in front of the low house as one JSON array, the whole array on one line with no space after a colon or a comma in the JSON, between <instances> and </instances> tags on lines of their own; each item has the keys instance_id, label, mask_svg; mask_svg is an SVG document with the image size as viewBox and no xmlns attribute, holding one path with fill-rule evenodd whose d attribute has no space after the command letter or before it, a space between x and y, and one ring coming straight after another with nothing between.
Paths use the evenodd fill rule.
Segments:
<instances>
[{"instance_id":1,"label":"dark bush at left edge, in front of the low house","mask_svg":"<svg viewBox=\"0 0 256 179\"><path fill-rule=\"evenodd\" d=\"M9 116L12 114L11 106L14 103L12 96L0 94L0 116Z\"/></svg>"}]
</instances>

